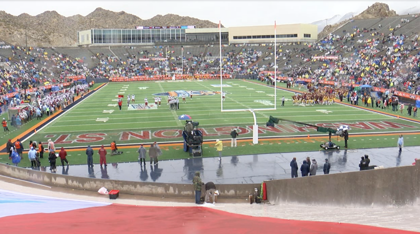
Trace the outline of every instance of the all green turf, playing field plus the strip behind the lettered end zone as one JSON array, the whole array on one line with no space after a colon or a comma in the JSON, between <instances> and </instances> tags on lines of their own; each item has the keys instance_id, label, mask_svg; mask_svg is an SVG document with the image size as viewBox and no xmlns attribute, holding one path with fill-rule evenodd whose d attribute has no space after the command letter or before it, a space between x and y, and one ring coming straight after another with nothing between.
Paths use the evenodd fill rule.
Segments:
<instances>
[{"instance_id":1,"label":"all green turf, playing field plus the strip behind the lettered end zone","mask_svg":"<svg viewBox=\"0 0 420 234\"><path fill-rule=\"evenodd\" d=\"M274 89L263 83L252 83L243 80L223 80L223 87L227 92L223 109L260 109L273 108ZM280 84L281 86L282 84ZM214 87L216 86L216 87ZM230 138L233 128L238 129L239 137L252 137L253 117L248 111L221 112L220 80L206 81L149 81L149 82L115 82L109 83L93 95L87 97L71 110L39 130L30 137L31 140L48 138L56 142L56 147L74 147L86 145L109 146L112 140L117 144L140 144L150 142L181 142L185 120L178 120L178 116L189 115L192 120L199 122L199 129L203 131L204 140ZM192 100L187 97L187 103L182 103L179 110L171 111L167 105L167 93L181 94L183 91L195 91ZM172 92L177 91L177 92ZM412 121L398 119L386 115L373 113L367 110L341 104L296 106L292 104L293 92L277 90L277 110L256 111L255 115L259 125L259 137L298 137L276 140L263 140L253 145L252 141L238 142L237 148L230 147L230 140L225 140L224 156L296 152L319 150L320 142L328 137L319 137L314 128L304 125L294 125L290 122L280 122L275 128L268 128L265 123L268 117L280 117L294 121L306 122L323 127L338 127L347 124L350 131L350 148L373 148L396 146L397 132L419 131L420 124ZM162 105L157 109L128 110L126 96L134 94L135 103L144 104L148 98L149 105L154 105L153 97L161 95ZM124 95L123 108L120 111L116 106L118 95ZM285 106L281 106L281 97L287 98ZM130 109L133 109L130 107ZM372 134L383 133L383 136ZM307 138L307 135L310 138ZM357 136L356 134L370 134ZM386 135L387 134L387 135ZM318 135L318 137L317 137ZM29 140L28 139L28 140ZM239 140L238 140L239 141ZM333 137L333 141L343 146L342 138ZM214 142L214 141L213 141ZM418 145L417 135L405 136L405 145ZM26 144L26 142L24 142ZM188 153L182 146L163 146L164 154L160 159L187 158ZM108 157L109 162L136 161L137 148L125 148L122 156ZM86 163L84 150L68 152L72 164ZM25 159L27 158L25 154ZM214 143L203 146L203 156L216 156ZM4 162L6 156L2 156ZM45 160L45 158L44 158ZM7 160L6 160L7 161ZM45 160L46 161L46 160ZM96 159L95 159L96 162ZM23 160L20 166L28 166ZM45 165L45 162L43 162Z\"/></svg>"}]
</instances>

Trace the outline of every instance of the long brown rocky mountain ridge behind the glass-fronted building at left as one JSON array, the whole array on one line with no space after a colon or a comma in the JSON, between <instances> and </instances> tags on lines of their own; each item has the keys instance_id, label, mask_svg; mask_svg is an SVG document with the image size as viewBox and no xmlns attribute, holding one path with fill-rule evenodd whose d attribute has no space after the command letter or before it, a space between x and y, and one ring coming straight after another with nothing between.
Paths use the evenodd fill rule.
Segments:
<instances>
[{"instance_id":1,"label":"long brown rocky mountain ridge behind the glass-fronted building at left","mask_svg":"<svg viewBox=\"0 0 420 234\"><path fill-rule=\"evenodd\" d=\"M25 45L25 29L28 46L72 46L77 42L77 31L91 28L135 28L135 26L181 26L214 28L217 23L168 14L142 20L124 11L113 12L97 8L87 16L64 17L55 11L37 16L21 14L13 16L0 11L0 39L10 44Z\"/></svg>"}]
</instances>

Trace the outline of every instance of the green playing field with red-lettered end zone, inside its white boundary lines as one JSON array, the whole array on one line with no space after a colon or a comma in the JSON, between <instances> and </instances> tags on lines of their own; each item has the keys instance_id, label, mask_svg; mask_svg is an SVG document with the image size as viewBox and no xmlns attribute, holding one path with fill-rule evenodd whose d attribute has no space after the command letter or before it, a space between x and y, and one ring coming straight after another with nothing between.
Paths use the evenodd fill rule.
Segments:
<instances>
[{"instance_id":1,"label":"green playing field with red-lettered end zone, inside its white boundary lines","mask_svg":"<svg viewBox=\"0 0 420 234\"><path fill-rule=\"evenodd\" d=\"M227 86L223 87L227 93L223 109L274 108L274 89L262 84L223 80L223 85ZM169 110L168 94L181 95L189 91L194 91L192 100L187 97L187 103L182 103L178 97L179 110ZM249 111L221 112L219 92L220 80L109 83L30 139L46 142L51 138L58 146L64 147L109 145L113 140L118 144L182 141L185 120L178 120L181 115L189 115L199 122L205 140L230 138L233 128L238 129L239 137L252 137L252 114ZM136 97L135 104L144 105L147 97L151 109L127 107L126 96L132 94ZM121 111L117 106L118 95L124 95ZM154 107L153 97L158 95L162 97L162 105ZM277 90L277 110L255 111L259 137L323 134L316 132L315 128L289 122L281 122L274 129L267 128L269 116L332 128L346 124L352 128L351 134L420 130L420 124L416 122L340 104L296 106L292 104L292 95L292 92ZM282 96L287 98L283 107Z\"/></svg>"}]
</instances>

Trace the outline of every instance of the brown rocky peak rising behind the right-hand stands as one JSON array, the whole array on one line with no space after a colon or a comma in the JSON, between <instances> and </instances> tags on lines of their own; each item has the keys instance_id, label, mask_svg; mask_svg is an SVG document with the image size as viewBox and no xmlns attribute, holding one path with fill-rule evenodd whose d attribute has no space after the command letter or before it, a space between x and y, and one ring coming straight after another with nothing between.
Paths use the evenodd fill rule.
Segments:
<instances>
[{"instance_id":1,"label":"brown rocky peak rising behind the right-hand stands","mask_svg":"<svg viewBox=\"0 0 420 234\"><path fill-rule=\"evenodd\" d=\"M350 18L349 20L364 20L364 19L391 17L391 16L398 16L398 15L394 10L390 10L387 4L376 2L373 5L368 6L368 8L364 10L362 13L358 14L355 17ZM345 24L349 20L345 20L345 21L342 21L333 25L327 25L322 30L322 32L318 34L318 39L323 38L330 32L335 31L338 27Z\"/></svg>"}]
</instances>

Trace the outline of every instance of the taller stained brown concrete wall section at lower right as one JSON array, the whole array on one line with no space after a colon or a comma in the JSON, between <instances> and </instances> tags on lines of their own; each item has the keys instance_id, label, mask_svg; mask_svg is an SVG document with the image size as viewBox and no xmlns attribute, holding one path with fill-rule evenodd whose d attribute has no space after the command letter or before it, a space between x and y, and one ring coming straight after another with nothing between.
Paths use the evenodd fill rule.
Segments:
<instances>
[{"instance_id":1,"label":"taller stained brown concrete wall section at lower right","mask_svg":"<svg viewBox=\"0 0 420 234\"><path fill-rule=\"evenodd\" d=\"M299 175L300 176L300 175ZM420 204L416 166L266 181L272 204L412 206Z\"/></svg>"}]
</instances>

